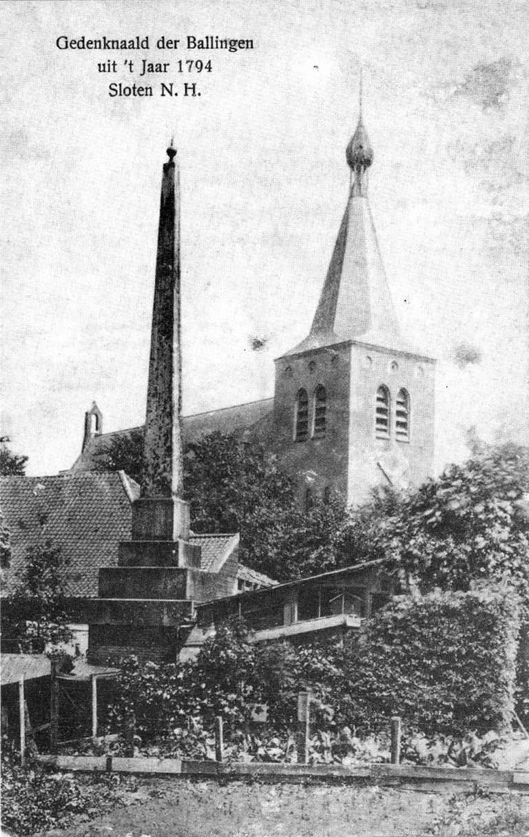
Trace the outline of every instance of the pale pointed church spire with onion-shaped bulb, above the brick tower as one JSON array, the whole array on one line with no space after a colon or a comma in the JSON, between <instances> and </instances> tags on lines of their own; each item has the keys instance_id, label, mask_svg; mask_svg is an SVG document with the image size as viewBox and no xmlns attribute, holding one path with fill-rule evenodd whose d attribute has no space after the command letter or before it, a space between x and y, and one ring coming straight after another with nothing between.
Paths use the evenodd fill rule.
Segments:
<instances>
[{"instance_id":1,"label":"pale pointed church spire with onion-shaped bulb, above the brick tower","mask_svg":"<svg viewBox=\"0 0 529 837\"><path fill-rule=\"evenodd\" d=\"M347 208L321 291L310 335L293 352L350 339L397 349L397 316L367 199L374 152L363 124L362 87L357 128L346 149L351 168Z\"/></svg>"}]
</instances>

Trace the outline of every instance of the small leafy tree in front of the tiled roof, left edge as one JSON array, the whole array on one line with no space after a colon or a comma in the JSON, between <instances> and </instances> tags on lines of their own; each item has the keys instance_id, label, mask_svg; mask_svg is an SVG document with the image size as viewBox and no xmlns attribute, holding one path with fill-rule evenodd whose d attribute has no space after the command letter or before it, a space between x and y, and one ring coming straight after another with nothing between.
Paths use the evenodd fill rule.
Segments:
<instances>
[{"instance_id":1,"label":"small leafy tree in front of the tiled roof, left edge","mask_svg":"<svg viewBox=\"0 0 529 837\"><path fill-rule=\"evenodd\" d=\"M69 640L64 610L67 565L60 547L49 540L28 547L13 592L3 604L3 641L34 653Z\"/></svg>"}]
</instances>

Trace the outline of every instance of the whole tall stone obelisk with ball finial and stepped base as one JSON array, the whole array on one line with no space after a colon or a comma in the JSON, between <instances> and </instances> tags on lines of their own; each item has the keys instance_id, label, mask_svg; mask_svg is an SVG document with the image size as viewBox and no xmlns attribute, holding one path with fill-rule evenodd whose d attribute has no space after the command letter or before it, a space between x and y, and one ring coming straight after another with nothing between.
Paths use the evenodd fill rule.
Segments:
<instances>
[{"instance_id":1,"label":"whole tall stone obelisk with ball finial and stepped base","mask_svg":"<svg viewBox=\"0 0 529 837\"><path fill-rule=\"evenodd\" d=\"M134 653L174 659L193 624L193 600L210 597L216 577L201 569L189 542L183 500L182 349L180 343L180 189L177 152L167 149L158 229L141 496L132 504L132 537L117 567L99 573L88 658Z\"/></svg>"}]
</instances>

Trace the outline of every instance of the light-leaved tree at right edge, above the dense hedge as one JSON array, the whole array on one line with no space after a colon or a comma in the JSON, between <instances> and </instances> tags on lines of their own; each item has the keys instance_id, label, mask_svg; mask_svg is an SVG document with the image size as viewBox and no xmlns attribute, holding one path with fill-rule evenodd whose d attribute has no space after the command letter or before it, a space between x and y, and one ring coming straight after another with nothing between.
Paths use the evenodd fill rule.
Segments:
<instances>
[{"instance_id":1,"label":"light-leaved tree at right edge, above the dense hedge","mask_svg":"<svg viewBox=\"0 0 529 837\"><path fill-rule=\"evenodd\" d=\"M529 455L516 445L475 446L463 465L408 494L384 491L349 512L337 560L387 557L426 593L507 581L529 605Z\"/></svg>"}]
</instances>

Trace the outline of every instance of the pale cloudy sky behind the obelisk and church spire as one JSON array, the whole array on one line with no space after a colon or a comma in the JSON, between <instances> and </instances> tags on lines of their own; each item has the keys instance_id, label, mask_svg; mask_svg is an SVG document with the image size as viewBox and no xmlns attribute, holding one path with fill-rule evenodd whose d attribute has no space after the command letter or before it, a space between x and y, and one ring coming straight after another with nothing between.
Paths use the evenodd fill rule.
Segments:
<instances>
[{"instance_id":1,"label":"pale cloudy sky behind the obelisk and church spire","mask_svg":"<svg viewBox=\"0 0 529 837\"><path fill-rule=\"evenodd\" d=\"M162 162L182 168L184 413L265 398L306 336L364 121L370 200L403 332L439 358L439 469L529 441L526 2L2 4L2 433L69 468L95 399L145 414ZM253 39L254 49L59 51L69 39ZM97 72L116 59L119 72ZM110 98L171 62L200 97ZM178 74L178 59L211 60ZM254 337L264 341L258 352Z\"/></svg>"}]
</instances>

